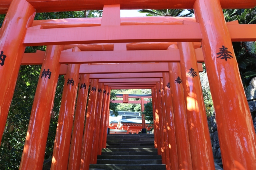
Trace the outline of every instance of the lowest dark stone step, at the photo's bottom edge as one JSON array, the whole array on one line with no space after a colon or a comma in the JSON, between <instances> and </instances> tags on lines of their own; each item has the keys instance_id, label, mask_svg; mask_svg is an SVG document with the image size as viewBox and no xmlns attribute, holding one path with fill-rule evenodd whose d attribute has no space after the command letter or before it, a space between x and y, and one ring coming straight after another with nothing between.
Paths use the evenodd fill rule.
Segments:
<instances>
[{"instance_id":1,"label":"lowest dark stone step, at the photo's bottom edge","mask_svg":"<svg viewBox=\"0 0 256 170\"><path fill-rule=\"evenodd\" d=\"M118 164L90 164L89 170L165 170L164 164L156 165L118 165Z\"/></svg>"}]
</instances>

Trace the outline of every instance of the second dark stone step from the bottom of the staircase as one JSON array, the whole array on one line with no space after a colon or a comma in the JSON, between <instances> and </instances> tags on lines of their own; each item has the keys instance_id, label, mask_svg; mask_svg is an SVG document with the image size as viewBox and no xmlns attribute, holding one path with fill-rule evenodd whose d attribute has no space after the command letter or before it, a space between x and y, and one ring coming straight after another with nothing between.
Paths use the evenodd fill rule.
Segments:
<instances>
[{"instance_id":1,"label":"second dark stone step from the bottom of the staircase","mask_svg":"<svg viewBox=\"0 0 256 170\"><path fill-rule=\"evenodd\" d=\"M137 159L137 160L116 160L116 159L102 159L97 160L97 164L116 164L116 165L154 165L154 164L162 164L162 160L143 160L143 159Z\"/></svg>"}]
</instances>

